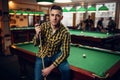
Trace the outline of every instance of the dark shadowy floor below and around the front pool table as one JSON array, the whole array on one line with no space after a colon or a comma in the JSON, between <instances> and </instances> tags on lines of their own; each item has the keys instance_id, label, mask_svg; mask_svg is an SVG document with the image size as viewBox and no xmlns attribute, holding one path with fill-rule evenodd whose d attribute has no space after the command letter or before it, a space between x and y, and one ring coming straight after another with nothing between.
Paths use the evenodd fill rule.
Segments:
<instances>
[{"instance_id":1,"label":"dark shadowy floor below and around the front pool table","mask_svg":"<svg viewBox=\"0 0 120 80\"><path fill-rule=\"evenodd\" d=\"M0 80L34 80L34 68L31 64L26 71L20 72L20 65L16 55L0 56ZM111 80L120 80L120 71ZM47 80L60 80L60 76L51 73Z\"/></svg>"}]
</instances>

